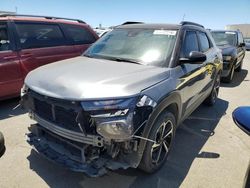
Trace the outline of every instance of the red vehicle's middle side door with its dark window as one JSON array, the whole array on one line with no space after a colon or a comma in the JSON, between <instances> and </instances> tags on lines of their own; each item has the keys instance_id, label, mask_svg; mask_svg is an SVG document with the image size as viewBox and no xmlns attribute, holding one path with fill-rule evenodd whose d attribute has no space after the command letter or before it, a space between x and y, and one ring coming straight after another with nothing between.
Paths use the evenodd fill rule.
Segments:
<instances>
[{"instance_id":1,"label":"red vehicle's middle side door with its dark window","mask_svg":"<svg viewBox=\"0 0 250 188\"><path fill-rule=\"evenodd\" d=\"M24 76L39 66L77 56L60 26L46 22L15 22Z\"/></svg>"}]
</instances>

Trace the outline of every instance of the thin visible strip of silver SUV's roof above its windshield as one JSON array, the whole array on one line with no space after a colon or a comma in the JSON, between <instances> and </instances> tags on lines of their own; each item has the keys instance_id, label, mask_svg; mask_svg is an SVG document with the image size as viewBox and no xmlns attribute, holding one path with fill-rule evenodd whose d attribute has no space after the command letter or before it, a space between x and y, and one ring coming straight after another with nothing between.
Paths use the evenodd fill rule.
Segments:
<instances>
[{"instance_id":1,"label":"thin visible strip of silver SUV's roof above its windshield","mask_svg":"<svg viewBox=\"0 0 250 188\"><path fill-rule=\"evenodd\" d=\"M116 28L137 28L137 29L180 29L182 25L179 24L126 24L119 25Z\"/></svg>"}]
</instances>

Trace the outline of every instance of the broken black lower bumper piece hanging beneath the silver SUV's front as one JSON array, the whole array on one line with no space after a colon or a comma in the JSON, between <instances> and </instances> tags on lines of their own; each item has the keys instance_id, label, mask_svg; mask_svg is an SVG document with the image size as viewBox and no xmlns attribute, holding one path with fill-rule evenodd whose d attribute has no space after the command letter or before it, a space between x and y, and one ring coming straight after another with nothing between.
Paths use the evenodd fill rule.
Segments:
<instances>
[{"instance_id":1,"label":"broken black lower bumper piece hanging beneath the silver SUV's front","mask_svg":"<svg viewBox=\"0 0 250 188\"><path fill-rule=\"evenodd\" d=\"M115 161L109 156L85 161L84 147L79 147L68 139L47 132L39 124L30 127L27 142L40 155L72 171L83 172L90 177L98 177L107 173L107 169L127 169L126 161ZM44 132L46 131L46 133Z\"/></svg>"}]
</instances>

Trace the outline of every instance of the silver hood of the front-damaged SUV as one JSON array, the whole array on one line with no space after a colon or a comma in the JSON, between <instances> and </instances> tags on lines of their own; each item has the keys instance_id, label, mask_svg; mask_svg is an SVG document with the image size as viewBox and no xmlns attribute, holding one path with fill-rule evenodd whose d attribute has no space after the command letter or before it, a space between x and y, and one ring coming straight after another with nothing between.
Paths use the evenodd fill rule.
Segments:
<instances>
[{"instance_id":1,"label":"silver hood of the front-damaged SUV","mask_svg":"<svg viewBox=\"0 0 250 188\"><path fill-rule=\"evenodd\" d=\"M84 100L136 95L168 76L168 68L82 56L39 67L25 84L42 95Z\"/></svg>"}]
</instances>

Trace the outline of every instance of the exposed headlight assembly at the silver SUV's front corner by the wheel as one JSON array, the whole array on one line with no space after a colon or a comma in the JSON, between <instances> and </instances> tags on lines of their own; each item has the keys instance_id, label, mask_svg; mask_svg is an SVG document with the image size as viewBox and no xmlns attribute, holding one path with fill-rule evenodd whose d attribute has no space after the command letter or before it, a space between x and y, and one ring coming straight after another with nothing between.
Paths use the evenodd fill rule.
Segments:
<instances>
[{"instance_id":1,"label":"exposed headlight assembly at the silver SUV's front corner by the wheel","mask_svg":"<svg viewBox=\"0 0 250 188\"><path fill-rule=\"evenodd\" d=\"M150 97L132 97L113 100L81 102L84 111L90 113L96 123L97 132L104 138L115 140L130 139L133 135L133 116L135 108L156 106Z\"/></svg>"}]
</instances>

